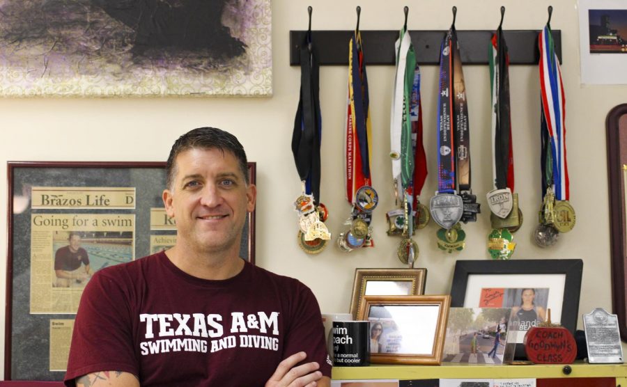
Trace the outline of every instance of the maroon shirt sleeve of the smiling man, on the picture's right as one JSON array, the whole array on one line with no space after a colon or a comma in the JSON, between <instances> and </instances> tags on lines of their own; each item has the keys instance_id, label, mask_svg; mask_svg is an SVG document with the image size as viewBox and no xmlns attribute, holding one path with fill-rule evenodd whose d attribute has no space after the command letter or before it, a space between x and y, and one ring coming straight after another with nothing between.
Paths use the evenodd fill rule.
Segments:
<instances>
[{"instance_id":1,"label":"maroon shirt sleeve of the smiling man, on the picture's right","mask_svg":"<svg viewBox=\"0 0 627 387\"><path fill-rule=\"evenodd\" d=\"M298 297L295 297L293 304L295 312L290 316L291 323L285 339L284 357L304 351L307 358L303 363L316 361L320 365L320 372L325 377L331 377L332 363L327 354L320 306L309 287L302 283L298 285Z\"/></svg>"}]
</instances>

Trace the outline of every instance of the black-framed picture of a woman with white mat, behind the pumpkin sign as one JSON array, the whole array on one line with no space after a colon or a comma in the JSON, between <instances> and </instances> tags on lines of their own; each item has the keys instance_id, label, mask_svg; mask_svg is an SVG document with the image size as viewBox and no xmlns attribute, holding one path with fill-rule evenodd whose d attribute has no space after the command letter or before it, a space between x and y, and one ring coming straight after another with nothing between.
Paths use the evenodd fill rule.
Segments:
<instances>
[{"instance_id":1,"label":"black-framed picture of a woman with white mat, behind the pumpkin sign","mask_svg":"<svg viewBox=\"0 0 627 387\"><path fill-rule=\"evenodd\" d=\"M574 333L582 272L582 260L458 260L451 306L511 308L507 324L515 356L526 358L525 333L546 320L549 308L552 322Z\"/></svg>"}]
</instances>

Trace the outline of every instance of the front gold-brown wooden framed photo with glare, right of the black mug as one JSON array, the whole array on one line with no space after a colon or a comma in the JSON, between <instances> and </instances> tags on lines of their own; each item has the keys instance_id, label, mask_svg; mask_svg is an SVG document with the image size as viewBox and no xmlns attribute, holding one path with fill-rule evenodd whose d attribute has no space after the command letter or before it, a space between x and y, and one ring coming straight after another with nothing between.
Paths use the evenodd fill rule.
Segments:
<instances>
[{"instance_id":1,"label":"front gold-brown wooden framed photo with glare, right of the black mug","mask_svg":"<svg viewBox=\"0 0 627 387\"><path fill-rule=\"evenodd\" d=\"M451 297L364 296L358 319L370 322L371 363L442 363Z\"/></svg>"}]
</instances>

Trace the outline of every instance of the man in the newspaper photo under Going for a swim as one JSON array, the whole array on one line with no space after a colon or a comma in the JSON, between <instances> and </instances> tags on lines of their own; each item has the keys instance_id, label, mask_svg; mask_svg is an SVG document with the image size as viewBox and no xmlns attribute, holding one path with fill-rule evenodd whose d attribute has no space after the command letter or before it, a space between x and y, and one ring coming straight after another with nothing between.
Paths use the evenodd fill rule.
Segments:
<instances>
[{"instance_id":1,"label":"man in the newspaper photo under Going for a swim","mask_svg":"<svg viewBox=\"0 0 627 387\"><path fill-rule=\"evenodd\" d=\"M70 287L72 283L82 283L91 276L89 255L81 247L81 239L78 232L70 232L68 246L59 248L54 254L56 287Z\"/></svg>"}]
</instances>

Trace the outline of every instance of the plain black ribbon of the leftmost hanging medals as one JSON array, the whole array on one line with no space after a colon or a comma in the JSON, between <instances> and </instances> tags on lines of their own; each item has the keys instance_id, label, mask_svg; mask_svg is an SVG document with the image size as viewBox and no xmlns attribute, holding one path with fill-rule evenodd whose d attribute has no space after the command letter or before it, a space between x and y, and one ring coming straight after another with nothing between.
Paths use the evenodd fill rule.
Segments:
<instances>
[{"instance_id":1,"label":"plain black ribbon of the leftmost hanging medals","mask_svg":"<svg viewBox=\"0 0 627 387\"><path fill-rule=\"evenodd\" d=\"M300 180L307 184L307 193L320 203L320 68L316 48L307 34L300 47L300 101L294 119L292 153Z\"/></svg>"}]
</instances>

